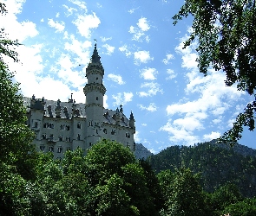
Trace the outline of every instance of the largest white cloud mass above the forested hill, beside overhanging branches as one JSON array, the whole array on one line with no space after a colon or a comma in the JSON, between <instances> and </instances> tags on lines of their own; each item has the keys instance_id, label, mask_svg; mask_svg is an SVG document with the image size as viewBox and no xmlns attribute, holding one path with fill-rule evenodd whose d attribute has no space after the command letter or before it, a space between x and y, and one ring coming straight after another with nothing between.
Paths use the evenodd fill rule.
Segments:
<instances>
[{"instance_id":1,"label":"largest white cloud mass above the forested hill, beside overhanging branches","mask_svg":"<svg viewBox=\"0 0 256 216\"><path fill-rule=\"evenodd\" d=\"M218 137L219 132L207 133L207 130L213 124L218 124L219 128L221 125L226 127L222 116L226 111L230 111L234 103L243 95L243 92L237 91L236 86L225 85L225 73L212 69L208 70L207 77L199 73L194 46L192 44L192 47L182 49L183 42L181 41L175 48L176 52L181 54L182 67L187 69L185 75L187 86L184 92L187 98L193 98L190 100L182 98L179 102L167 105L168 120L161 130L167 131L170 136L169 140L176 143L194 144ZM172 70L168 73L170 76L174 74ZM213 124L206 124L206 122ZM197 135L199 131L206 131L205 136L199 138Z\"/></svg>"}]
</instances>

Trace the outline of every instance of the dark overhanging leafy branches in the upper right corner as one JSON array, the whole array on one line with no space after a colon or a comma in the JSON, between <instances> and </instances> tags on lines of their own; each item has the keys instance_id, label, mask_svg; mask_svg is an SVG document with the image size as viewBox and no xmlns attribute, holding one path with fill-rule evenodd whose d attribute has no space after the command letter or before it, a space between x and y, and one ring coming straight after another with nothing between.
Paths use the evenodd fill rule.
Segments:
<instances>
[{"instance_id":1,"label":"dark overhanging leafy branches in the upper right corner","mask_svg":"<svg viewBox=\"0 0 256 216\"><path fill-rule=\"evenodd\" d=\"M208 67L226 73L226 86L256 97L256 8L255 0L186 0L176 14L174 25L192 15L192 33L184 42L187 48L198 42L196 51L200 73L207 75ZM241 138L243 126L255 128L256 99L246 105L233 128L219 138L221 143Z\"/></svg>"}]
</instances>

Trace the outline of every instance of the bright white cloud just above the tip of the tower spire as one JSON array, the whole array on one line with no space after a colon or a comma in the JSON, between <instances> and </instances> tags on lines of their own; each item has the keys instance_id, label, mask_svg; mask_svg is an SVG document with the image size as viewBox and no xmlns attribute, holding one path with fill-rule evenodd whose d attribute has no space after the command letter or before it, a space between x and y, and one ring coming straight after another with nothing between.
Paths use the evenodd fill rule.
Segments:
<instances>
[{"instance_id":1,"label":"bright white cloud just above the tip of the tower spire","mask_svg":"<svg viewBox=\"0 0 256 216\"><path fill-rule=\"evenodd\" d=\"M93 12L92 15L79 15L73 22L78 29L80 35L89 38L91 35L91 29L96 29L101 23L98 16Z\"/></svg>"}]
</instances>

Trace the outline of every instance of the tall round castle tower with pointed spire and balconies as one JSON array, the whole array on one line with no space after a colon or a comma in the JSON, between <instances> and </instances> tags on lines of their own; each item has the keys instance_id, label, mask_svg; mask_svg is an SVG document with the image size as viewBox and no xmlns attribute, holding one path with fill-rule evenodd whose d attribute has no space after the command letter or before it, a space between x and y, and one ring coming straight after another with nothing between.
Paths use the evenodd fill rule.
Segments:
<instances>
[{"instance_id":1,"label":"tall round castle tower with pointed spire and balconies","mask_svg":"<svg viewBox=\"0 0 256 216\"><path fill-rule=\"evenodd\" d=\"M88 133L85 139L89 145L96 143L102 137L103 96L106 92L106 88L102 84L103 75L104 68L95 44L94 53L86 68L88 83L83 88L86 96L85 112L88 124Z\"/></svg>"}]
</instances>

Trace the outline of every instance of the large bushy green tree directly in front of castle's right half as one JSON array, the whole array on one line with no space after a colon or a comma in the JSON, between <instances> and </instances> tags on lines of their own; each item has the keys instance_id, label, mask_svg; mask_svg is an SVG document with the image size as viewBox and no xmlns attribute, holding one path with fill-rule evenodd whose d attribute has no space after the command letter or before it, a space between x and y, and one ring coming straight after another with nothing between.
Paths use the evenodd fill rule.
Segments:
<instances>
[{"instance_id":1,"label":"large bushy green tree directly in front of castle's right half","mask_svg":"<svg viewBox=\"0 0 256 216\"><path fill-rule=\"evenodd\" d=\"M130 149L103 139L89 150L85 162L85 175L95 191L92 215L158 215L145 170Z\"/></svg>"}]
</instances>

